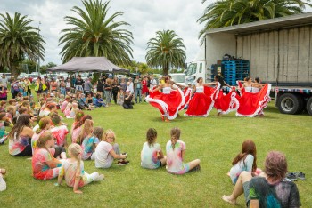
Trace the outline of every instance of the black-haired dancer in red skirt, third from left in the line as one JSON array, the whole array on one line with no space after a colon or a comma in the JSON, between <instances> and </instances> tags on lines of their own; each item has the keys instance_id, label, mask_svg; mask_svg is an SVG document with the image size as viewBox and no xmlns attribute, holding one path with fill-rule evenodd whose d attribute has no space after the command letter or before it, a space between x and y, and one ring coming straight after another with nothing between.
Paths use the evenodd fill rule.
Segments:
<instances>
[{"instance_id":1,"label":"black-haired dancer in red skirt, third from left in the line","mask_svg":"<svg viewBox=\"0 0 312 208\"><path fill-rule=\"evenodd\" d=\"M226 82L223 80L222 76L215 76L216 84L219 84L219 90L216 93L216 100L214 107L218 111L218 116L221 116L222 114L228 114L231 111L235 111L239 107L239 102L236 98L236 92L229 84L226 84ZM222 87L227 86L231 89L230 92L227 94L223 93Z\"/></svg>"}]
</instances>

